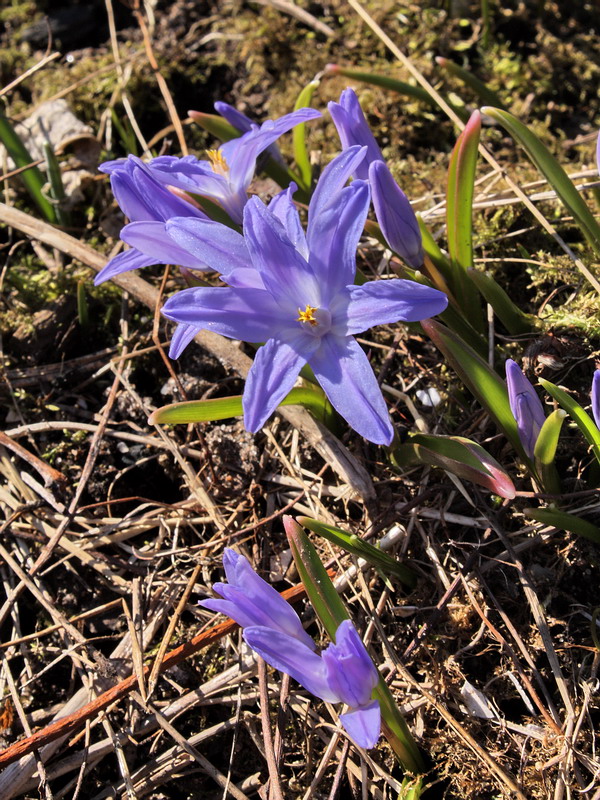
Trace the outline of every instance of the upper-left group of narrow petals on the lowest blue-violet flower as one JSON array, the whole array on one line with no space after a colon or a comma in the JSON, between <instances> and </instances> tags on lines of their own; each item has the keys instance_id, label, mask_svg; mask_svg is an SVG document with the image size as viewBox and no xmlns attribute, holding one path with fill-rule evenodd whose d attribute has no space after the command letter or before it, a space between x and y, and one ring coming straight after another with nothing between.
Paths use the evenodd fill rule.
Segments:
<instances>
[{"instance_id":1,"label":"upper-left group of narrow petals on the lowest blue-violet flower","mask_svg":"<svg viewBox=\"0 0 600 800\"><path fill-rule=\"evenodd\" d=\"M201 606L227 614L242 628L264 626L315 650L315 643L302 627L300 617L278 591L256 574L248 559L226 548L223 566L228 583L215 583L213 589L224 599L203 600Z\"/></svg>"}]
</instances>

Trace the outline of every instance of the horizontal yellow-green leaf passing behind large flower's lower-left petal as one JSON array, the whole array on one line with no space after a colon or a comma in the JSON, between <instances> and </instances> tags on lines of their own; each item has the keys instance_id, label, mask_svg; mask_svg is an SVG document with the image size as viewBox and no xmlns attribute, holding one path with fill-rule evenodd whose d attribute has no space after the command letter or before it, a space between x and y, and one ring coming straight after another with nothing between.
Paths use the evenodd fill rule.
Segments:
<instances>
[{"instance_id":1,"label":"horizontal yellow-green leaf passing behind large flower's lower-left petal","mask_svg":"<svg viewBox=\"0 0 600 800\"><path fill-rule=\"evenodd\" d=\"M329 401L318 387L301 386L292 389L280 406L304 406L323 420L330 413ZM212 422L230 417L241 417L242 395L217 397L211 400L190 400L185 403L171 403L154 411L148 422L151 425L187 425L194 422Z\"/></svg>"}]
</instances>

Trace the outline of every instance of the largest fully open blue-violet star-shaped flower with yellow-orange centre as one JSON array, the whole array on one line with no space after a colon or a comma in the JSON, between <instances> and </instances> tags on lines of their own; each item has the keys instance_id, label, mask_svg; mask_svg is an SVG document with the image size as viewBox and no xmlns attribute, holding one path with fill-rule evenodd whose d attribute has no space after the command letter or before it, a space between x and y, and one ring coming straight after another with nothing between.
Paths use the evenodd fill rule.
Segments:
<instances>
[{"instance_id":1,"label":"largest fully open blue-violet star-shaped flower with yellow-orange centre","mask_svg":"<svg viewBox=\"0 0 600 800\"><path fill-rule=\"evenodd\" d=\"M236 286L178 292L163 314L230 338L266 342L244 389L250 431L262 427L308 362L352 428L377 444L393 439L377 379L354 334L433 316L446 308L447 298L399 279L353 285L370 192L362 180L343 187L364 153L365 148L351 148L323 172L310 202L306 236L289 194L280 195L270 209L252 197L244 209L243 240L235 240L234 256L226 255L220 269L217 228L190 219L166 226L179 246L219 269L230 284L243 275Z\"/></svg>"}]
</instances>

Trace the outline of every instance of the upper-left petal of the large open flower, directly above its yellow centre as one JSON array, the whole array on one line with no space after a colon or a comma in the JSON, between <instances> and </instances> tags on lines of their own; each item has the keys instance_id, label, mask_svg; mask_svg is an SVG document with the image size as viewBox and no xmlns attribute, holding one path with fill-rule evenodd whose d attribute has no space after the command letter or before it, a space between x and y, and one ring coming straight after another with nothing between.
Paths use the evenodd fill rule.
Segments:
<instances>
[{"instance_id":1,"label":"upper-left petal of the large open flower, directly above its yellow centre","mask_svg":"<svg viewBox=\"0 0 600 800\"><path fill-rule=\"evenodd\" d=\"M252 264L267 290L278 300L287 298L290 322L297 308L320 307L320 286L312 267L258 197L251 197L244 209L244 234Z\"/></svg>"}]
</instances>

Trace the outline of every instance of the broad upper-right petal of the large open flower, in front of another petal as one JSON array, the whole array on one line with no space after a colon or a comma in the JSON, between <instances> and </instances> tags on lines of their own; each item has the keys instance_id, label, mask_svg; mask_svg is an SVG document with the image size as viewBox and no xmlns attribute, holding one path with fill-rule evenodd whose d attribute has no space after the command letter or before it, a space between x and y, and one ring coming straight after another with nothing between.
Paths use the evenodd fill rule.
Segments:
<instances>
[{"instance_id":1,"label":"broad upper-right petal of the large open flower, in front of another petal","mask_svg":"<svg viewBox=\"0 0 600 800\"><path fill-rule=\"evenodd\" d=\"M321 297L325 306L329 306L331 298L344 286L354 282L356 248L370 202L369 184L354 181L342 189L317 218L313 218L310 263L321 278Z\"/></svg>"}]
</instances>

